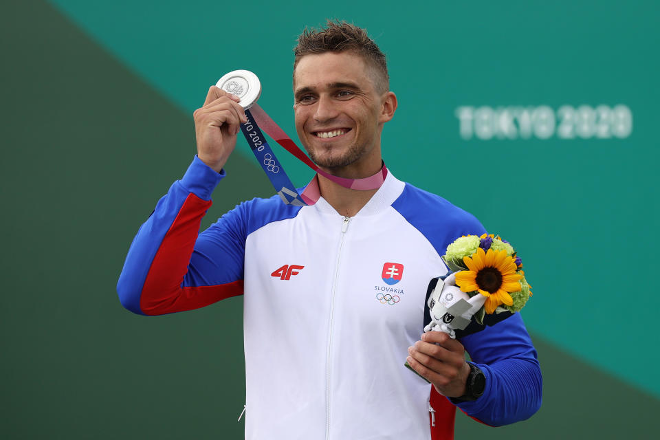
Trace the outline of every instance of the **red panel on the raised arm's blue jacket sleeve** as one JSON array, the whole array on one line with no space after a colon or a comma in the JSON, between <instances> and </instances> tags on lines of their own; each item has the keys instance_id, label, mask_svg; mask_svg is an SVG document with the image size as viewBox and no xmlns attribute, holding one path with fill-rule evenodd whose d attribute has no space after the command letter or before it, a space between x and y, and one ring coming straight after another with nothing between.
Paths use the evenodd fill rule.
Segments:
<instances>
[{"instance_id":1,"label":"red panel on the raised arm's blue jacket sleeve","mask_svg":"<svg viewBox=\"0 0 660 440\"><path fill-rule=\"evenodd\" d=\"M140 308L147 315L199 309L243 294L243 280L223 285L181 287L195 248L201 217L211 206L190 193L156 252L142 287Z\"/></svg>"}]
</instances>

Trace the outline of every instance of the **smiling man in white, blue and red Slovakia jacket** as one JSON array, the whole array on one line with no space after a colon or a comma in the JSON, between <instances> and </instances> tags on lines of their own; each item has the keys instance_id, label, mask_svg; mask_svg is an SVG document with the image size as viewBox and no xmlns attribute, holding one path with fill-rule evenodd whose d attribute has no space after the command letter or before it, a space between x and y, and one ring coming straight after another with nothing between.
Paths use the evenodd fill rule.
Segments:
<instances>
[{"instance_id":1,"label":"smiling man in white, blue and red Slovakia jacket","mask_svg":"<svg viewBox=\"0 0 660 440\"><path fill-rule=\"evenodd\" d=\"M397 98L380 49L329 22L295 52L296 130L311 159L339 177L381 173ZM314 205L253 199L198 235L247 120L238 101L211 87L195 111L197 157L135 237L118 292L146 315L244 294L245 438L451 439L454 405L491 425L536 412L540 371L519 314L460 341L420 339L446 245L485 232L444 199L392 173L377 190L317 175Z\"/></svg>"}]
</instances>

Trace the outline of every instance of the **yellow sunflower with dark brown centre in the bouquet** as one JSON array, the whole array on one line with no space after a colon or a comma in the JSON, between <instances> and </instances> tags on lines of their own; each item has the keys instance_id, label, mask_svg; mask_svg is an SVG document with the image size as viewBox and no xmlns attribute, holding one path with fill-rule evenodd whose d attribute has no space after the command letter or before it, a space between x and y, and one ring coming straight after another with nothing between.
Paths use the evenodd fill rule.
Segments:
<instances>
[{"instance_id":1,"label":"yellow sunflower with dark brown centre in the bouquet","mask_svg":"<svg viewBox=\"0 0 660 440\"><path fill-rule=\"evenodd\" d=\"M513 305L514 300L509 292L520 291L520 278L516 270L518 266L505 250L484 252L478 248L476 253L463 257L463 263L469 270L456 272L456 285L463 292L478 291L486 296L485 309L492 314L498 305Z\"/></svg>"}]
</instances>

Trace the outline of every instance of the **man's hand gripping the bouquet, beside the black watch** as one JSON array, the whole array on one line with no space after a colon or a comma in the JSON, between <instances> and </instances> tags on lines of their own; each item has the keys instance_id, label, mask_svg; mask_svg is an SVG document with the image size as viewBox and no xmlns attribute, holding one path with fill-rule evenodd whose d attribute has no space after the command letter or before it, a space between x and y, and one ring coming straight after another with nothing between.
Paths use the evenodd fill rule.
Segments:
<instances>
[{"instance_id":1,"label":"man's hand gripping the bouquet, beside the black watch","mask_svg":"<svg viewBox=\"0 0 660 440\"><path fill-rule=\"evenodd\" d=\"M438 393L446 397L465 394L470 365L465 362L461 342L442 331L427 331L408 348L408 353L408 364L431 382Z\"/></svg>"}]
</instances>

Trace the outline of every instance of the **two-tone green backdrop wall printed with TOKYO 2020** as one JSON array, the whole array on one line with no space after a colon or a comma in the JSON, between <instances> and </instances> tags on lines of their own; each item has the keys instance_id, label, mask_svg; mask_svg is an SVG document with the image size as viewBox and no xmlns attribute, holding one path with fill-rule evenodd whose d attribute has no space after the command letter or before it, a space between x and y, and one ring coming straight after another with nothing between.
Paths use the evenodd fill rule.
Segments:
<instances>
[{"instance_id":1,"label":"two-tone green backdrop wall printed with TOKYO 2020","mask_svg":"<svg viewBox=\"0 0 660 440\"><path fill-rule=\"evenodd\" d=\"M0 437L242 438L241 298L144 318L115 283L195 153L208 86L256 72L294 134L291 48L327 17L388 55L388 166L513 242L534 287L540 412L498 429L459 415L456 438L655 438L660 6L610 0L1 3ZM204 227L272 194L249 154Z\"/></svg>"}]
</instances>

